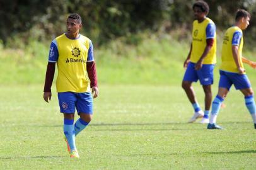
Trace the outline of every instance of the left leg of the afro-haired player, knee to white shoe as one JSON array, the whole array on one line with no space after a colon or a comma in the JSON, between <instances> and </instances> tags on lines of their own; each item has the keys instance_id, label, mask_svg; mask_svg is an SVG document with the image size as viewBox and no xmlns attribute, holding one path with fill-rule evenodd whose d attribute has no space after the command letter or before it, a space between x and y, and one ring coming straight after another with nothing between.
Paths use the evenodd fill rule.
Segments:
<instances>
[{"instance_id":1,"label":"left leg of the afro-haired player, knee to white shoe","mask_svg":"<svg viewBox=\"0 0 256 170\"><path fill-rule=\"evenodd\" d=\"M185 93L187 94L187 97L189 98L190 103L192 104L195 114L192 116L192 118L189 120L189 123L195 122L197 118L201 118L204 113L202 113L202 110L197 103L195 99L195 92L192 87L192 82L190 81L182 81L182 88L184 89Z\"/></svg>"}]
</instances>

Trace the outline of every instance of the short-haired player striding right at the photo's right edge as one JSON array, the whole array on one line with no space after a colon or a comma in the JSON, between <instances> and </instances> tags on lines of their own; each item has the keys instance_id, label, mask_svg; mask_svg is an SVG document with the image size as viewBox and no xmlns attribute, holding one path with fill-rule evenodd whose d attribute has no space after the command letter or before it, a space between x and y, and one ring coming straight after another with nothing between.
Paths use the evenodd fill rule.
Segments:
<instances>
[{"instance_id":1,"label":"short-haired player striding right at the photo's right edge","mask_svg":"<svg viewBox=\"0 0 256 170\"><path fill-rule=\"evenodd\" d=\"M220 110L221 103L234 84L237 90L245 96L245 105L252 115L254 128L256 128L256 106L253 98L253 89L250 81L245 74L243 63L256 68L256 62L252 62L242 55L243 31L247 28L250 21L250 14L239 9L236 12L235 25L228 28L223 38L221 53L221 66L219 68L219 90L216 98L212 101L212 110L208 129L222 129L216 125L216 118Z\"/></svg>"}]
</instances>

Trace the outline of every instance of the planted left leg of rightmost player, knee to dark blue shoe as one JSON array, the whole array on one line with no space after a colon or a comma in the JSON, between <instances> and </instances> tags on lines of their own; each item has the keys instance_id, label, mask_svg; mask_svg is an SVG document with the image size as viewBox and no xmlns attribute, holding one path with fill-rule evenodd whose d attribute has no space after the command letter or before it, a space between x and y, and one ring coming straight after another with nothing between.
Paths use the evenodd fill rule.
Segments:
<instances>
[{"instance_id":1,"label":"planted left leg of rightmost player, knee to dark blue shoe","mask_svg":"<svg viewBox=\"0 0 256 170\"><path fill-rule=\"evenodd\" d=\"M212 110L211 116L209 120L209 124L207 126L208 129L222 129L216 125L217 116L219 114L219 110L221 108L221 103L224 101L224 97L228 94L228 89L219 88L218 95L212 101Z\"/></svg>"}]
</instances>

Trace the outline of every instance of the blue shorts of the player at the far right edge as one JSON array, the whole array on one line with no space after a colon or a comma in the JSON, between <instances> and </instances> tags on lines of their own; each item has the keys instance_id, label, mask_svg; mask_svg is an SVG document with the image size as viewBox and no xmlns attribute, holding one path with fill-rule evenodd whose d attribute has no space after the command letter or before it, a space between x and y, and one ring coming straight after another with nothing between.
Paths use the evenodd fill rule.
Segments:
<instances>
[{"instance_id":1,"label":"blue shorts of the player at the far right edge","mask_svg":"<svg viewBox=\"0 0 256 170\"><path fill-rule=\"evenodd\" d=\"M230 90L232 84L236 89L248 89L251 87L250 81L246 74L238 74L235 72L219 71L219 88Z\"/></svg>"}]
</instances>

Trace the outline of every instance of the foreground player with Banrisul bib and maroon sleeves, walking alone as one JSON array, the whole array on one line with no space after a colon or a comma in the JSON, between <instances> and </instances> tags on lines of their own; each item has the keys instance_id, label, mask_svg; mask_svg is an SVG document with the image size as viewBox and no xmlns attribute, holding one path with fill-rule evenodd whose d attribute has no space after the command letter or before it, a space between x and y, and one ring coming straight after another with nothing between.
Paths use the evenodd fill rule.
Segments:
<instances>
[{"instance_id":1,"label":"foreground player with Banrisul bib and maroon sleeves, walking alone","mask_svg":"<svg viewBox=\"0 0 256 170\"><path fill-rule=\"evenodd\" d=\"M67 32L55 38L50 44L49 60L45 76L44 100L51 99L55 63L58 76L56 88L61 113L64 115L64 139L70 157L79 157L75 137L91 121L93 98L98 96L96 67L93 57L93 43L79 34L82 21L79 14L67 18ZM80 118L74 123L75 110Z\"/></svg>"}]
</instances>

